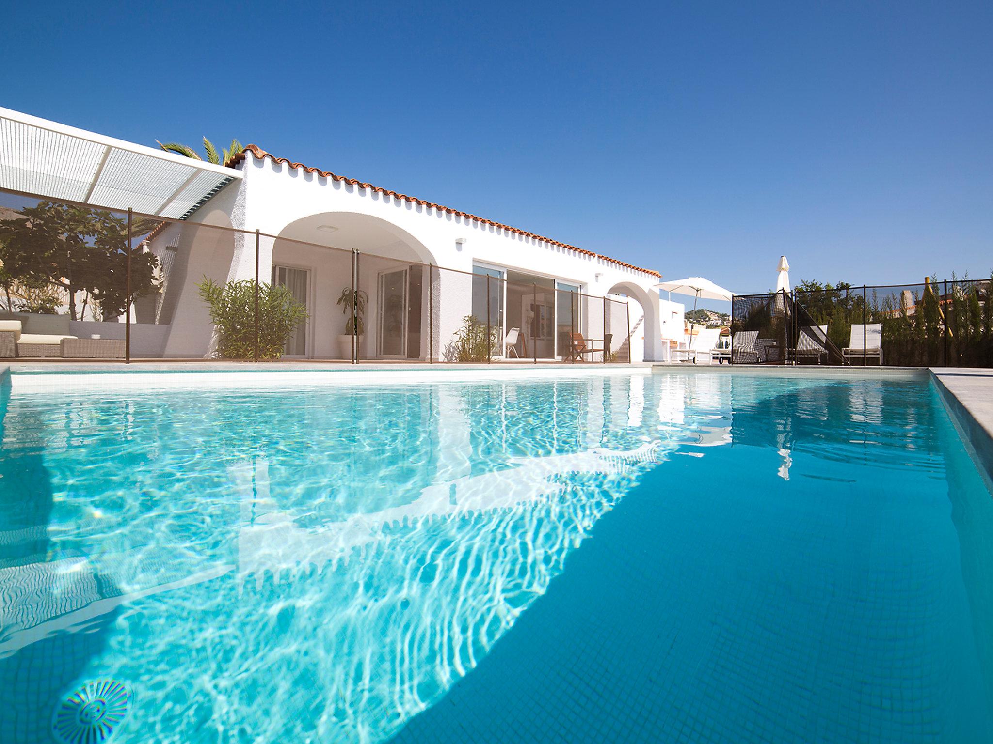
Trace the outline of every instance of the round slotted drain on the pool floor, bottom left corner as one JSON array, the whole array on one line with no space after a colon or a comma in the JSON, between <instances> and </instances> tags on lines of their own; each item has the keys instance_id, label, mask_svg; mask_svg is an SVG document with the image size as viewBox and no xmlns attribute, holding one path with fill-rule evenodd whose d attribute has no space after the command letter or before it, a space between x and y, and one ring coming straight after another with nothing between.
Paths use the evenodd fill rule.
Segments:
<instances>
[{"instance_id":1,"label":"round slotted drain on the pool floor, bottom left corner","mask_svg":"<svg viewBox=\"0 0 993 744\"><path fill-rule=\"evenodd\" d=\"M107 741L131 707L131 690L116 680L86 682L59 703L52 731L62 744Z\"/></svg>"}]
</instances>

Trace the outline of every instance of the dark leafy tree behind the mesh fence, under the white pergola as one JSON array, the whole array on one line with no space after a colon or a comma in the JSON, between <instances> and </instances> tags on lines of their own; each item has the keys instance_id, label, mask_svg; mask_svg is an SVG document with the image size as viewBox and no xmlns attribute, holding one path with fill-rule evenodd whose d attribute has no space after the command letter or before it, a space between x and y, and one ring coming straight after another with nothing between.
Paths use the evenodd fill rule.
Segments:
<instances>
[{"instance_id":1,"label":"dark leafy tree behind the mesh fence, under the white pergola","mask_svg":"<svg viewBox=\"0 0 993 744\"><path fill-rule=\"evenodd\" d=\"M66 293L73 320L81 319L76 293L85 293L104 318L121 315L127 307L127 261L131 254L131 299L158 291L158 259L140 245L128 246L127 220L84 206L39 201L0 220L0 282L5 291L54 288ZM147 232L147 224L132 223L132 236Z\"/></svg>"}]
</instances>

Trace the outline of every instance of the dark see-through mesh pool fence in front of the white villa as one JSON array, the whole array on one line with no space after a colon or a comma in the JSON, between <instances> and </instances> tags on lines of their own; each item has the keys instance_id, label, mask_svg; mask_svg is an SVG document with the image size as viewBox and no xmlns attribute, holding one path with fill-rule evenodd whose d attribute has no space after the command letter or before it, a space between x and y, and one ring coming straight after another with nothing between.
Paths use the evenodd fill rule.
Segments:
<instances>
[{"instance_id":1,"label":"dark see-through mesh pool fence in front of the white villa","mask_svg":"<svg viewBox=\"0 0 993 744\"><path fill-rule=\"evenodd\" d=\"M0 358L633 360L623 295L437 266L395 237L343 248L345 228L239 230L211 202L197 219L0 191Z\"/></svg>"}]
</instances>

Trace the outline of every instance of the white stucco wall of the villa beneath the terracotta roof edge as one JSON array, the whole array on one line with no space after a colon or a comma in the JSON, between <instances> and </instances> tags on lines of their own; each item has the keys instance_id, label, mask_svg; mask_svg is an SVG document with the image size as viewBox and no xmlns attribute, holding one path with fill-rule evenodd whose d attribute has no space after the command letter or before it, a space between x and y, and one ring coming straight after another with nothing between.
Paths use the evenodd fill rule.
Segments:
<instances>
[{"instance_id":1,"label":"white stucco wall of the villa beneath the terracotta roof edge","mask_svg":"<svg viewBox=\"0 0 993 744\"><path fill-rule=\"evenodd\" d=\"M260 230L273 236L294 237L329 247L344 249L351 256L353 248L361 252L361 289L368 293L370 305L376 297L376 274L384 262L373 258L383 255L397 261L433 263L446 269L472 272L480 262L504 269L552 277L578 285L583 293L603 296L623 293L631 302L633 358L661 358L659 298L650 286L658 281L654 275L620 266L597 256L589 256L561 246L539 241L495 225L472 220L431 206L414 203L372 188L352 186L343 181L293 169L272 159L258 160L247 155L239 165L244 173L213 197L205 207L192 215L190 222L227 224L242 230ZM318 231L322 222L335 225L347 220L351 225L369 225L369 239L355 238L355 230L346 240L342 233ZM169 228L173 230L174 228ZM166 234L163 237L166 237ZM226 274L227 279L250 279L255 271L255 239L252 235L231 234L224 242L229 258L221 255L219 246L211 248L210 256L197 257L204 263L195 267L194 257L186 272L186 282L200 281L206 272ZM274 245L275 243L275 245ZM351 244L350 244L351 243ZM274 258L275 257L275 258ZM218 266L227 261L226 271ZM337 357L334 336L344 330L344 315L334 306L342 286L348 284L349 274L343 274L342 262L332 252L321 248L273 240L260 240L260 278L269 281L273 261L307 268L312 273L311 290L311 356ZM351 272L350 260L345 271ZM202 270L203 269L203 270ZM193 329L176 328L167 343L167 355L196 354L203 348L203 307L196 307L196 289L185 288L180 306L185 314L175 321ZM434 338L433 355L439 358L445 344L451 340L463 316L472 308L472 281L453 271L435 274L432 333L423 324L426 355L427 337ZM194 302L191 302L194 301ZM425 310L427 310L425 302ZM644 316L642 307L648 311ZM365 326L363 356L374 356L376 349L374 309L370 308ZM603 310L598 303L584 306L584 333L600 337ZM176 336L174 339L173 336ZM645 338L647 337L647 344ZM615 339L615 346L623 339ZM200 353L206 353L201 351Z\"/></svg>"}]
</instances>

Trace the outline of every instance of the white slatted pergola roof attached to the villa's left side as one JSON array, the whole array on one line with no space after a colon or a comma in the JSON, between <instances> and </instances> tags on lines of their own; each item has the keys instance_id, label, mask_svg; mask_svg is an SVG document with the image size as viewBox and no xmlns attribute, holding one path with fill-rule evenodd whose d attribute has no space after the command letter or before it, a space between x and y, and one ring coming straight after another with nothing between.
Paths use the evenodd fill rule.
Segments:
<instances>
[{"instance_id":1,"label":"white slatted pergola roof attached to the villa's left side","mask_svg":"<svg viewBox=\"0 0 993 744\"><path fill-rule=\"evenodd\" d=\"M241 172L0 107L0 188L185 219Z\"/></svg>"}]
</instances>

